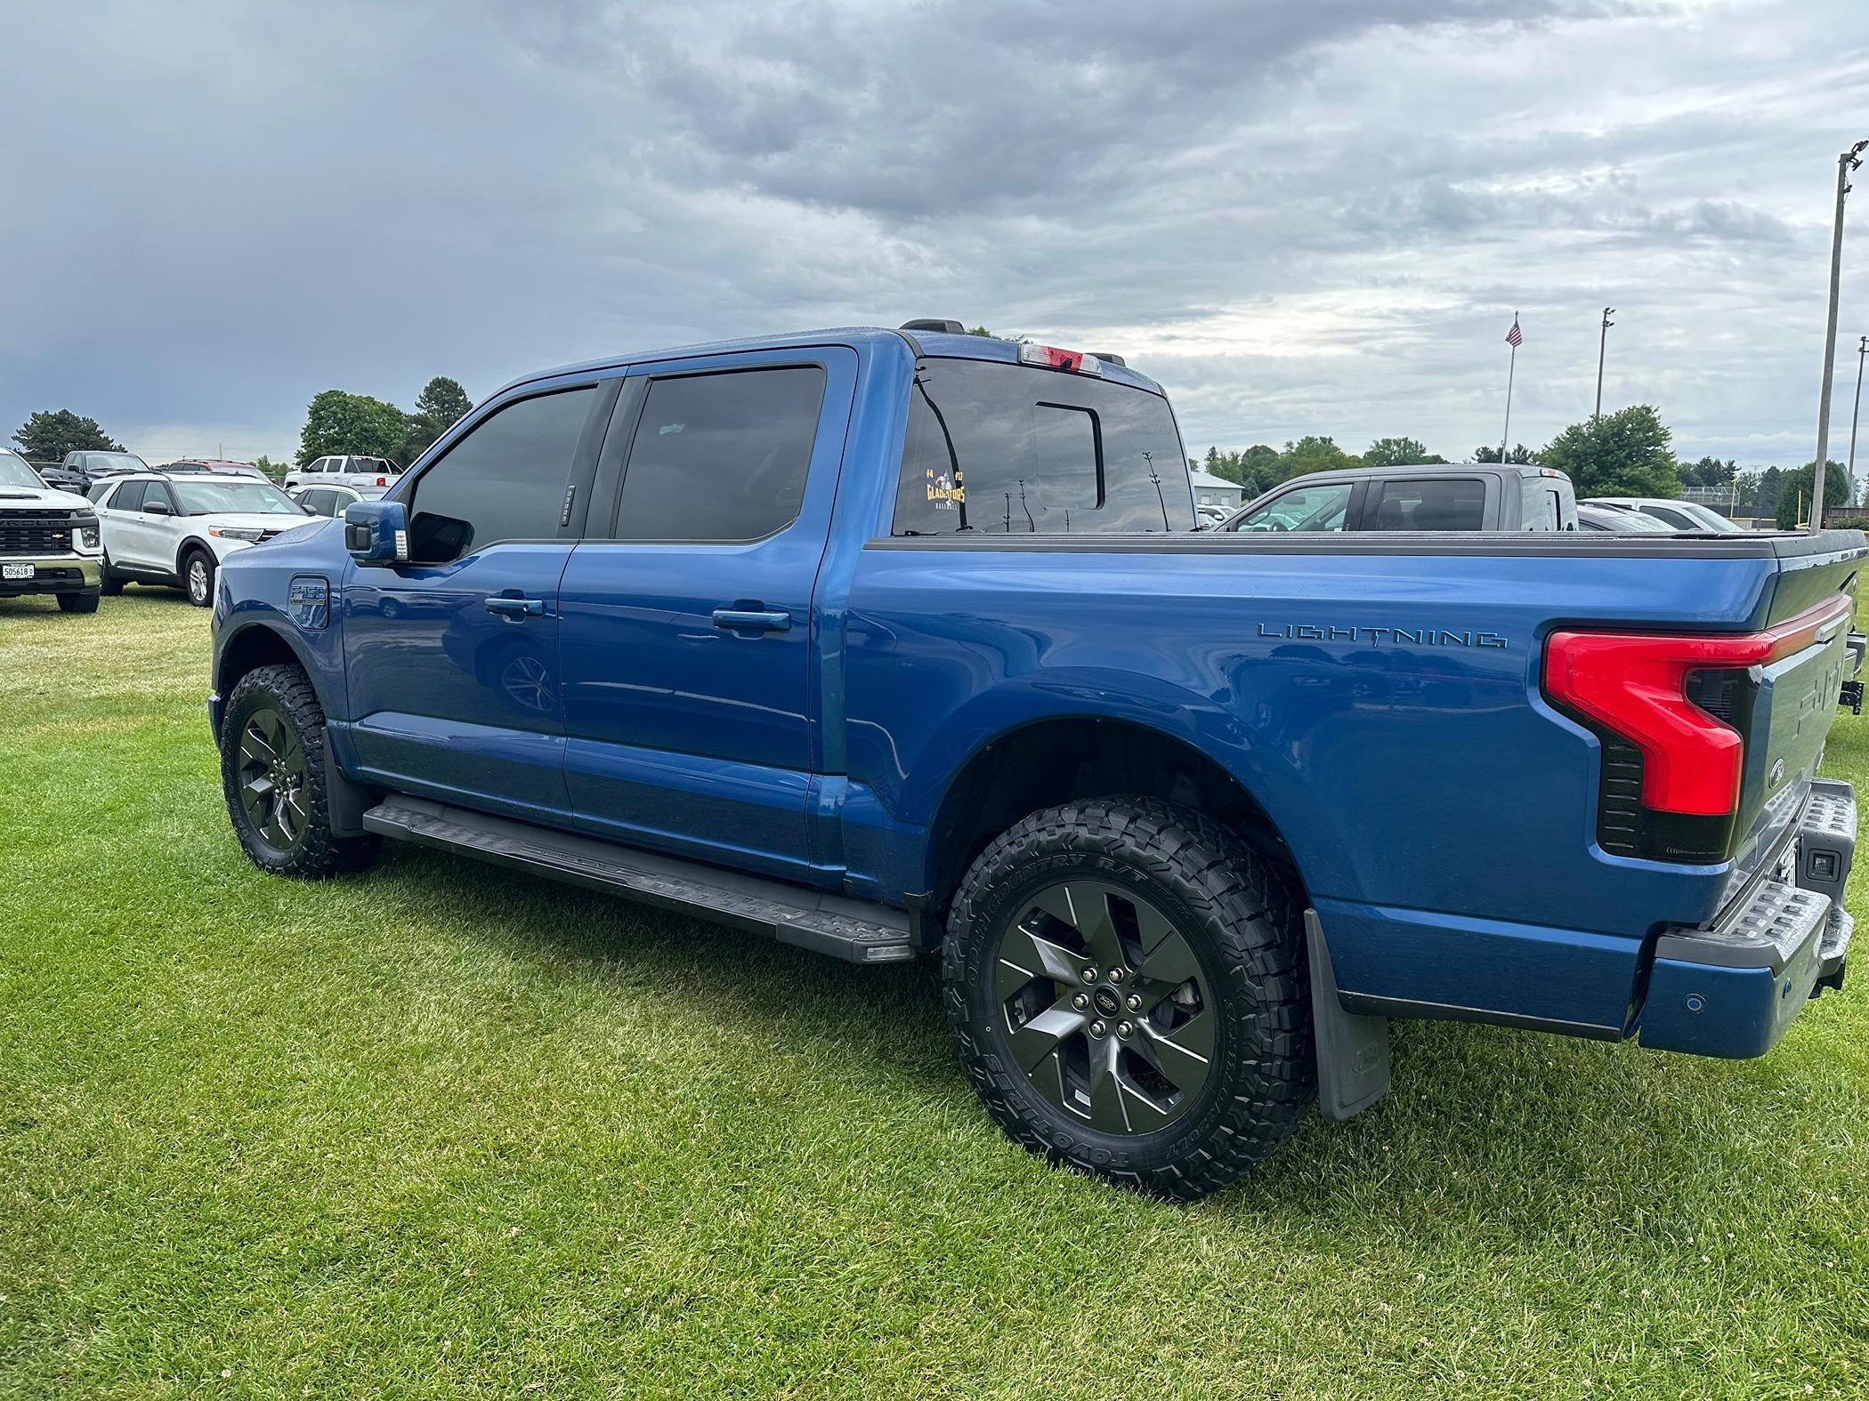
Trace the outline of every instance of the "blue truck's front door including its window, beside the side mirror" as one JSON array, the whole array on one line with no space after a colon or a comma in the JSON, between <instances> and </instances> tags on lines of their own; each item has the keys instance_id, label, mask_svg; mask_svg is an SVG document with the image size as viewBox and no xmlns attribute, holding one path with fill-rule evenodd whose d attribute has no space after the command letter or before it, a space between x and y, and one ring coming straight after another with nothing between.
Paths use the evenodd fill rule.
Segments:
<instances>
[{"instance_id":1,"label":"blue truck's front door including its window, beside the side mirror","mask_svg":"<svg viewBox=\"0 0 1869 1401\"><path fill-rule=\"evenodd\" d=\"M407 792L559 816L559 575L617 381L512 398L396 493L409 562L344 581L351 742Z\"/></svg>"}]
</instances>

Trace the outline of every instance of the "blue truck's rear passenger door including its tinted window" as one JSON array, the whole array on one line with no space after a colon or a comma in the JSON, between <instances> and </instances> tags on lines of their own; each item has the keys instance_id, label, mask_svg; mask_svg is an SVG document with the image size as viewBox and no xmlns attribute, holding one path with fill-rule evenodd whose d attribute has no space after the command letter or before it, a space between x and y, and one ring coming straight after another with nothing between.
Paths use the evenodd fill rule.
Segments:
<instances>
[{"instance_id":1,"label":"blue truck's rear passenger door including its tinted window","mask_svg":"<svg viewBox=\"0 0 1869 1401\"><path fill-rule=\"evenodd\" d=\"M854 389L849 347L630 372L561 587L579 826L809 876L813 592Z\"/></svg>"}]
</instances>

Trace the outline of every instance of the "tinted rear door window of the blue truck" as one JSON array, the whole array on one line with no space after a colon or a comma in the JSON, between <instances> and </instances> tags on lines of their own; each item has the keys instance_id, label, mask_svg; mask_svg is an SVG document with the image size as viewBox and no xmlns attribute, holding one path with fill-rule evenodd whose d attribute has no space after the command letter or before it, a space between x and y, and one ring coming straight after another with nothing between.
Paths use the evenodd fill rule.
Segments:
<instances>
[{"instance_id":1,"label":"tinted rear door window of the blue truck","mask_svg":"<svg viewBox=\"0 0 1869 1401\"><path fill-rule=\"evenodd\" d=\"M622 469L619 540L761 540L798 519L824 372L656 379Z\"/></svg>"}]
</instances>

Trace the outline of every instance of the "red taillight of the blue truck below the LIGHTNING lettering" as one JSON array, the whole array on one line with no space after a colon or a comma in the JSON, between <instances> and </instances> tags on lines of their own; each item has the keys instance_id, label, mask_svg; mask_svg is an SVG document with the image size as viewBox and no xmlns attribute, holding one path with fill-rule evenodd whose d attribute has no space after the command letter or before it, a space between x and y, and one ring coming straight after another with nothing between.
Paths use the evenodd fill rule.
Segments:
<instances>
[{"instance_id":1,"label":"red taillight of the blue truck below the LIGHTNING lettering","mask_svg":"<svg viewBox=\"0 0 1869 1401\"><path fill-rule=\"evenodd\" d=\"M1843 624L1848 598L1736 637L1691 633L1551 633L1544 687L1553 700L1641 751L1641 801L1656 813L1727 816L1740 801L1746 742L1688 699L1697 671L1744 671L1809 646Z\"/></svg>"}]
</instances>

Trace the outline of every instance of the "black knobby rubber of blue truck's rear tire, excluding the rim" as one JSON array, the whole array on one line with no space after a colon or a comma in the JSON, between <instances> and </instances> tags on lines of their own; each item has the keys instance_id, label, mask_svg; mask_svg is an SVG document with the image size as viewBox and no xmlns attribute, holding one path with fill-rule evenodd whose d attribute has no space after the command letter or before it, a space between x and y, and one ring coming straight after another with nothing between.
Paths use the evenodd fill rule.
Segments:
<instances>
[{"instance_id":1,"label":"black knobby rubber of blue truck's rear tire, excluding the rim","mask_svg":"<svg viewBox=\"0 0 1869 1401\"><path fill-rule=\"evenodd\" d=\"M992 964L1032 893L1065 876L1148 899L1215 992L1200 1097L1157 1132L1105 1134L1073 1121L1011 1055ZM1204 1197L1284 1145L1316 1098L1301 913L1278 869L1191 809L1093 798L1034 813L979 854L948 915L942 983L961 1063L987 1111L1028 1151L1125 1186Z\"/></svg>"}]
</instances>

